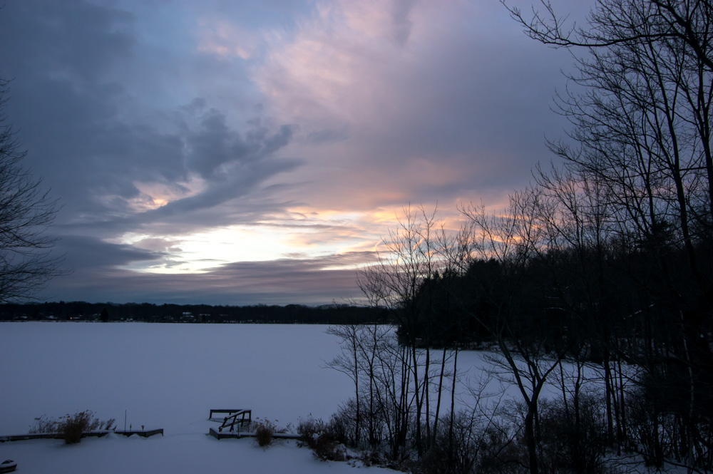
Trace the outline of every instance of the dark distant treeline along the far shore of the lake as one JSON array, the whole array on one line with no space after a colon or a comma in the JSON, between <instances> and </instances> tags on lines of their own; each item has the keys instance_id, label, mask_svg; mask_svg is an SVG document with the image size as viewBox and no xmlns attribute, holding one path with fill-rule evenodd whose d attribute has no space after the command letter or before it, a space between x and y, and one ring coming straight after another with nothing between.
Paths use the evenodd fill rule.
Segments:
<instances>
[{"instance_id":1,"label":"dark distant treeline along the far shore of the lake","mask_svg":"<svg viewBox=\"0 0 713 474\"><path fill-rule=\"evenodd\" d=\"M208 304L52 302L0 305L0 321L145 321L192 323L364 324L386 311L347 304L210 306Z\"/></svg>"}]
</instances>

